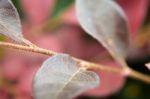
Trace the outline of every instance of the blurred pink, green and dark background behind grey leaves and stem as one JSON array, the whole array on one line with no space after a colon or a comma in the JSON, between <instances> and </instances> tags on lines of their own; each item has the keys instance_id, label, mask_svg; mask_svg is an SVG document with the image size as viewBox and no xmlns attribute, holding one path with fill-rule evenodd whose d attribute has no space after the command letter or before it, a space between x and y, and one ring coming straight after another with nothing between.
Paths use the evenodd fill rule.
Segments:
<instances>
[{"instance_id":1,"label":"blurred pink, green and dark background behind grey leaves and stem","mask_svg":"<svg viewBox=\"0 0 150 99\"><path fill-rule=\"evenodd\" d=\"M109 53L80 27L74 0L12 0L22 20L24 36L39 47L88 61L120 66ZM94 2L94 0L93 0ZM129 20L131 48L127 63L150 74L150 1L116 0ZM118 27L119 28L119 27ZM1 41L9 41L0 36ZM44 55L0 48L0 99L32 99L32 78ZM150 85L116 74L96 71L101 85L78 99L150 99Z\"/></svg>"}]
</instances>

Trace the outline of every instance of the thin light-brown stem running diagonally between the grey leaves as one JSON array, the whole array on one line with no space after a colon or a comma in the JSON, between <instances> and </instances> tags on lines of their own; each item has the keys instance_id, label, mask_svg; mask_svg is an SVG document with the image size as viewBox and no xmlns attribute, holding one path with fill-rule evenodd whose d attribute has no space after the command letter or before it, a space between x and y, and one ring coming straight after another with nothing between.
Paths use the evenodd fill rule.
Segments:
<instances>
[{"instance_id":1,"label":"thin light-brown stem running diagonally between the grey leaves","mask_svg":"<svg viewBox=\"0 0 150 99\"><path fill-rule=\"evenodd\" d=\"M12 49L18 49L18 50L23 50L23 51L29 51L29 52L34 52L34 53L39 53L39 54L44 54L48 56L53 56L56 55L56 52L46 50L43 48L39 48L36 46L25 46L25 45L19 45L19 44L13 44L13 43L6 43L6 42L0 42L0 46L6 47L6 48L12 48ZM138 71L132 70L129 67L125 68L113 68L109 66L104 66L101 64L96 64L88 61L84 61L81 59L74 58L73 59L79 63L80 66L85 67L86 69L94 69L94 70L100 70L100 71L106 71L106 72L111 72L111 73L117 73L121 75L125 75L137 80L144 81L146 83L150 84L150 76L142 74ZM126 72L129 71L129 72Z\"/></svg>"}]
</instances>

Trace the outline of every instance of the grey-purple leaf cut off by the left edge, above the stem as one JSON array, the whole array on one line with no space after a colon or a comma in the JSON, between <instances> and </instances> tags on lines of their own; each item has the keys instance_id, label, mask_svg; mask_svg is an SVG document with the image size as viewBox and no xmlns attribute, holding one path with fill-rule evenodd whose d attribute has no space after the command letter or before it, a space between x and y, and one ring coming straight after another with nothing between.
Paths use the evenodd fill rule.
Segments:
<instances>
[{"instance_id":1,"label":"grey-purple leaf cut off by the left edge, above the stem","mask_svg":"<svg viewBox=\"0 0 150 99\"><path fill-rule=\"evenodd\" d=\"M10 0L0 0L0 33L19 43L24 42L20 18Z\"/></svg>"}]
</instances>

